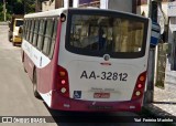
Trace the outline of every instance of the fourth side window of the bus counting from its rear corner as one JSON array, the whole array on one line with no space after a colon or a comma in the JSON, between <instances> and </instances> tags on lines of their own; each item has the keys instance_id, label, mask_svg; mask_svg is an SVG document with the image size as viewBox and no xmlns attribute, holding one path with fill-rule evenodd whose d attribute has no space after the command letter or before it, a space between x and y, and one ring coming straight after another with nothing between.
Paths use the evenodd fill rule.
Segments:
<instances>
[{"instance_id":1,"label":"fourth side window of the bus counting from its rear corner","mask_svg":"<svg viewBox=\"0 0 176 126\"><path fill-rule=\"evenodd\" d=\"M33 36L33 45L34 46L37 45L38 29L40 29L40 20L35 20L34 36Z\"/></svg>"}]
</instances>

